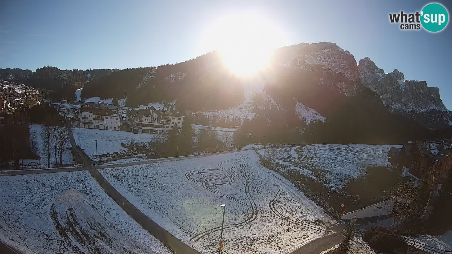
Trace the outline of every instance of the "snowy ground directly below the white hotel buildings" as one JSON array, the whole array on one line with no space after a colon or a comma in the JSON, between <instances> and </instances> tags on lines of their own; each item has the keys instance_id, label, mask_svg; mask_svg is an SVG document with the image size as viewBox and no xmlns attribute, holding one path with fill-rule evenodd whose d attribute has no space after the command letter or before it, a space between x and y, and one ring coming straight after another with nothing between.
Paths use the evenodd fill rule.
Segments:
<instances>
[{"instance_id":1,"label":"snowy ground directly below the white hotel buildings","mask_svg":"<svg viewBox=\"0 0 452 254\"><path fill-rule=\"evenodd\" d=\"M148 143L152 136L158 134L140 133L134 134L132 132L109 131L85 128L73 128L75 142L79 145L88 156L96 154L97 140L97 154L113 154L113 152L120 153L127 151L127 148L121 146L121 142L128 143L130 137L134 137L137 142Z\"/></svg>"}]
</instances>

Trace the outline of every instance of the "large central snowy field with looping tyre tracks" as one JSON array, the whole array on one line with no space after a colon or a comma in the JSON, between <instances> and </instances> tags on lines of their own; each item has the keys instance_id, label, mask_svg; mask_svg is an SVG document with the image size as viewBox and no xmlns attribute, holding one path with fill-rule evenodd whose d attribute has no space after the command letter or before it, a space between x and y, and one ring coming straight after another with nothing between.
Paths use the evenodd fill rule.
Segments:
<instances>
[{"instance_id":1,"label":"large central snowy field with looping tyre tracks","mask_svg":"<svg viewBox=\"0 0 452 254\"><path fill-rule=\"evenodd\" d=\"M100 169L122 195L203 254L277 254L325 235L333 221L254 151ZM321 220L321 221L320 221ZM325 226L325 223L327 226Z\"/></svg>"}]
</instances>

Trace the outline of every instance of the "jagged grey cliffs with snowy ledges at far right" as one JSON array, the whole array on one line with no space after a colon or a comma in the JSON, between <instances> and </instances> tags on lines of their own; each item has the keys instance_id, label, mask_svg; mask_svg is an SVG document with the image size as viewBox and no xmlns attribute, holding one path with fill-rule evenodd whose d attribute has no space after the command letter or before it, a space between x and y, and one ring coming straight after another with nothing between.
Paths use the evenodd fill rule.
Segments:
<instances>
[{"instance_id":1,"label":"jagged grey cliffs with snowy ledges at far right","mask_svg":"<svg viewBox=\"0 0 452 254\"><path fill-rule=\"evenodd\" d=\"M380 95L389 110L412 118L427 127L447 127L451 114L439 96L439 88L421 80L405 80L395 69L385 73L369 58L359 60L358 74L363 85Z\"/></svg>"}]
</instances>

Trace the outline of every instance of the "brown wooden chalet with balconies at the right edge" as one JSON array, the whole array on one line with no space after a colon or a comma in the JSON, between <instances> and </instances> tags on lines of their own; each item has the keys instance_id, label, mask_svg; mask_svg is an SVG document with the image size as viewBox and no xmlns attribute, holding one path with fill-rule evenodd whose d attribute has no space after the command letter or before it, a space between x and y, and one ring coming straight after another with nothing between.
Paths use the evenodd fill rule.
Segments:
<instances>
[{"instance_id":1,"label":"brown wooden chalet with balconies at the right edge","mask_svg":"<svg viewBox=\"0 0 452 254\"><path fill-rule=\"evenodd\" d=\"M445 150L447 149L447 151ZM432 164L442 164L442 167L447 167L448 160L445 155L448 153L449 146L445 145L443 142L428 142L428 141L415 141L410 149L411 153L411 166L409 169L409 174L414 178L414 186L419 186L420 181L425 176L426 172L430 171ZM438 156L439 154L439 156ZM441 162L440 162L441 161Z\"/></svg>"}]
</instances>

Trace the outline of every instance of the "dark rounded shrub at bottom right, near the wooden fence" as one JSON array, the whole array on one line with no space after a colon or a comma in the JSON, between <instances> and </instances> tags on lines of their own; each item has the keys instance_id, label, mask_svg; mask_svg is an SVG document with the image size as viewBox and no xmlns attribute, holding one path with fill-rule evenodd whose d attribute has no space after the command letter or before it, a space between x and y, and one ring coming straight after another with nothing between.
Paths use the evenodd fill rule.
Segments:
<instances>
[{"instance_id":1,"label":"dark rounded shrub at bottom right, near the wooden fence","mask_svg":"<svg viewBox=\"0 0 452 254\"><path fill-rule=\"evenodd\" d=\"M368 242L374 250L386 253L392 253L395 249L404 248L406 245L395 230L384 226L375 226L366 230L363 240Z\"/></svg>"}]
</instances>

